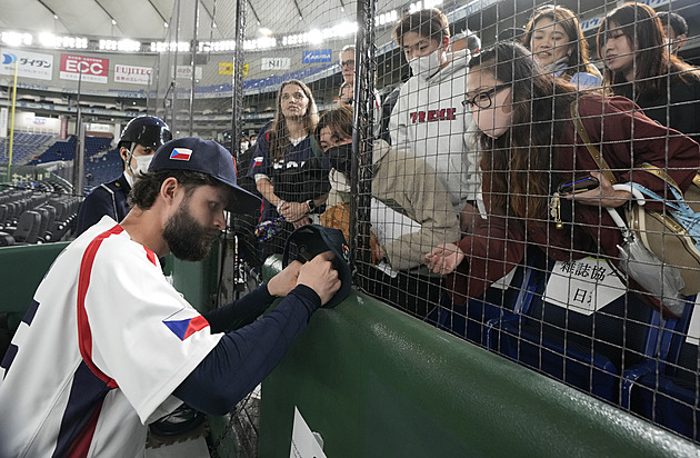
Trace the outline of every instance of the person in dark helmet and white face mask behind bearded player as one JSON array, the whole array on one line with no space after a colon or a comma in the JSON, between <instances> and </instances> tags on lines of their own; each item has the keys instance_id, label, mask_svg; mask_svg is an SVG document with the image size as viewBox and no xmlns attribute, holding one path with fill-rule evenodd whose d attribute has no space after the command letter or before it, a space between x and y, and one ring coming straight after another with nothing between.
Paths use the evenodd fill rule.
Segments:
<instances>
[{"instance_id":1,"label":"person in dark helmet and white face mask behind bearded player","mask_svg":"<svg viewBox=\"0 0 700 458\"><path fill-rule=\"evenodd\" d=\"M96 225L104 215L121 221L129 212L127 197L138 173L148 171L153 153L172 139L170 128L153 116L140 116L127 123L119 138L123 173L94 188L80 206L76 236Z\"/></svg>"}]
</instances>

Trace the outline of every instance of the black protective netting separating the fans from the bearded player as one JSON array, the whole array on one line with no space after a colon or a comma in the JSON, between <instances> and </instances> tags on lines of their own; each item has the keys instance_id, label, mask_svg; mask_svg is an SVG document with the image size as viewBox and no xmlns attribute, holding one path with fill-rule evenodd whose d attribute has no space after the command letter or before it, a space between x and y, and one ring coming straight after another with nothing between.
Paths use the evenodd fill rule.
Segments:
<instances>
[{"instance_id":1,"label":"black protective netting separating the fans from the bearded player","mask_svg":"<svg viewBox=\"0 0 700 458\"><path fill-rule=\"evenodd\" d=\"M221 142L263 198L230 221L219 302L296 227L337 227L357 289L698 442L700 17L618 3L178 1L116 103ZM57 155L6 200L81 195ZM212 444L254 444L238 414Z\"/></svg>"}]
</instances>

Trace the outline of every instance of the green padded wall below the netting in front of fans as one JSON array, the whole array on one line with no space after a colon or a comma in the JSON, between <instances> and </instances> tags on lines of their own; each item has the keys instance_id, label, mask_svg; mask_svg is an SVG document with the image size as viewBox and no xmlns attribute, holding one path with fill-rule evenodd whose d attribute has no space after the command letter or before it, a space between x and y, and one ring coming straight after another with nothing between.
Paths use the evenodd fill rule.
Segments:
<instances>
[{"instance_id":1,"label":"green padded wall below the netting in front of fans","mask_svg":"<svg viewBox=\"0 0 700 458\"><path fill-rule=\"evenodd\" d=\"M294 406L329 458L700 456L684 439L356 292L319 310L263 382L261 458L289 456Z\"/></svg>"}]
</instances>

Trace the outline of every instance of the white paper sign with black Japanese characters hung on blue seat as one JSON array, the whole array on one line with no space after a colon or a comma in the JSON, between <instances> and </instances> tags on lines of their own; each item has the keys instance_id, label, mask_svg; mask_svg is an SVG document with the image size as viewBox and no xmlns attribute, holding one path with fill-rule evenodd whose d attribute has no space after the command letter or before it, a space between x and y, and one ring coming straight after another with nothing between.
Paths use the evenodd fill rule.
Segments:
<instances>
[{"instance_id":1,"label":"white paper sign with black Japanese characters hung on blue seat","mask_svg":"<svg viewBox=\"0 0 700 458\"><path fill-rule=\"evenodd\" d=\"M557 261L547 282L544 300L591 315L626 292L626 287L603 259Z\"/></svg>"}]
</instances>

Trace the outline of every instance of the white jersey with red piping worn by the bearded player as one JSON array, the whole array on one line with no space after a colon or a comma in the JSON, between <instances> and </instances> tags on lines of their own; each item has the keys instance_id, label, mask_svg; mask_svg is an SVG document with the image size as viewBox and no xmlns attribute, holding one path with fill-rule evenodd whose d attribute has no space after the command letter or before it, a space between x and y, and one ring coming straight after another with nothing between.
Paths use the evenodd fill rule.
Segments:
<instances>
[{"instance_id":1,"label":"white jersey with red piping worn by the bearded player","mask_svg":"<svg viewBox=\"0 0 700 458\"><path fill-rule=\"evenodd\" d=\"M37 289L0 367L0 457L142 456L147 425L219 342L111 218Z\"/></svg>"}]
</instances>

